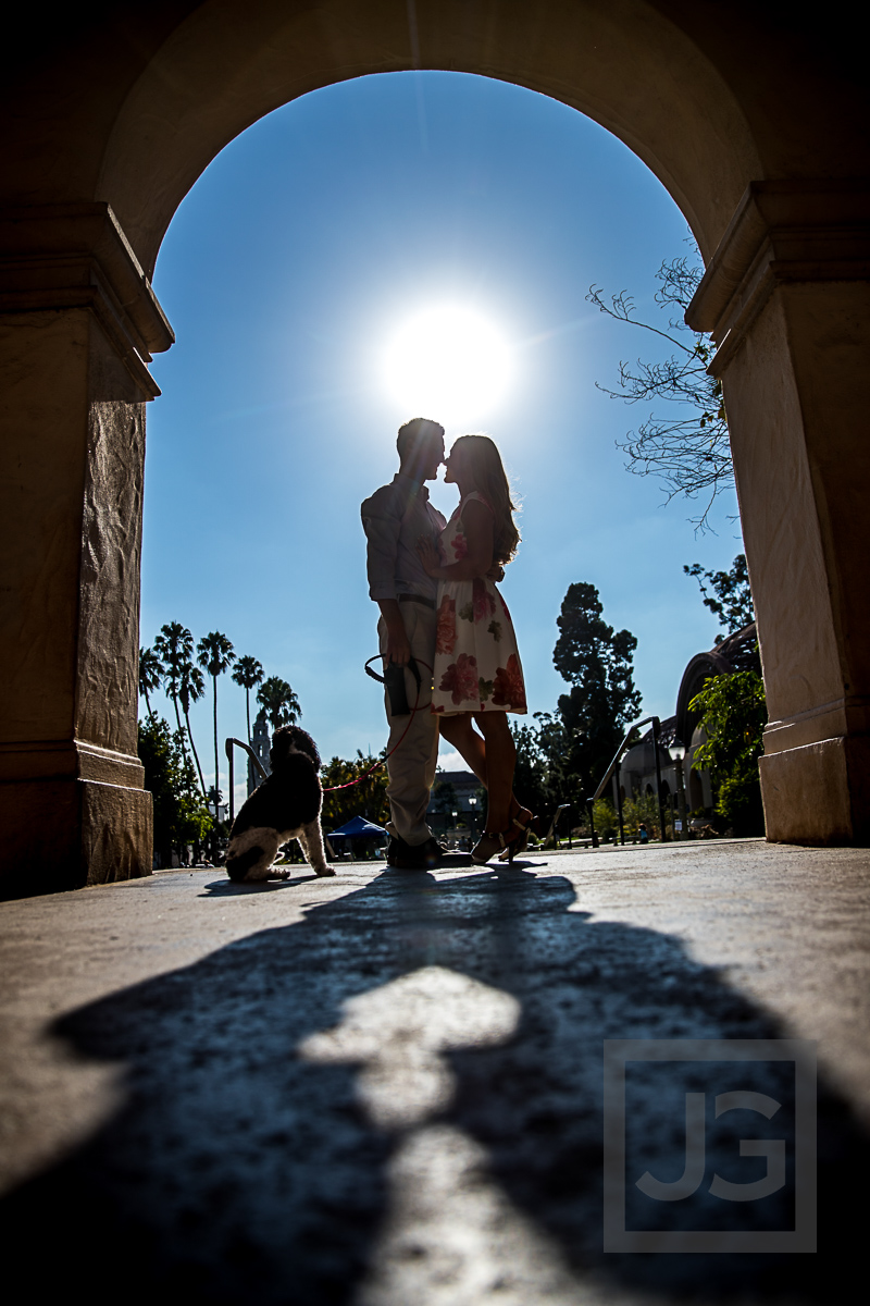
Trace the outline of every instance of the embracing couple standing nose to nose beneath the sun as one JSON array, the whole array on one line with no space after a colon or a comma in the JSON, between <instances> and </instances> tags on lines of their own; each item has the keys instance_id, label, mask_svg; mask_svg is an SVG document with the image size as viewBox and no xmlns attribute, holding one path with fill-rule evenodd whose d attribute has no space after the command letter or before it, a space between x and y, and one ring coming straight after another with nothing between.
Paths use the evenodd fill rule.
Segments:
<instances>
[{"instance_id":1,"label":"embracing couple standing nose to nose beneath the sun","mask_svg":"<svg viewBox=\"0 0 870 1306\"><path fill-rule=\"evenodd\" d=\"M403 870L440 865L443 850L427 823L440 734L487 789L487 824L472 861L484 863L502 850L513 858L526 846L532 814L513 793L517 751L507 713L526 713L526 687L510 614L496 588L519 545L510 486L487 435L459 436L445 460L443 427L415 418L399 430L397 448L399 471L363 504L385 671L406 669L407 701L416 704L410 721L385 695L387 862ZM432 507L425 487L442 462L445 481L459 491L450 521ZM407 670L412 660L420 687Z\"/></svg>"}]
</instances>

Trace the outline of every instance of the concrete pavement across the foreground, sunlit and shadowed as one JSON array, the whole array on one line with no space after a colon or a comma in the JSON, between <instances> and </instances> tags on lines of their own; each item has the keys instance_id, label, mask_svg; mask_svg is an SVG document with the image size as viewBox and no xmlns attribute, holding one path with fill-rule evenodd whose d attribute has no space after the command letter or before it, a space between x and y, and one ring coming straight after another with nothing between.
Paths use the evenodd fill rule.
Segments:
<instances>
[{"instance_id":1,"label":"concrete pavement across the foreground, sunlit and shadowed","mask_svg":"<svg viewBox=\"0 0 870 1306\"><path fill-rule=\"evenodd\" d=\"M866 850L742 841L299 872L245 887L173 871L0 906L0 1229L30 1293L853 1299ZM603 1043L627 1038L818 1040L818 1254L604 1250ZM758 1118L717 1121L717 1093L783 1102L762 1135L792 1155L784 1063L743 1079L723 1062L689 1079L673 1060L631 1067L626 1228L792 1228L790 1170L763 1200L708 1191L713 1173L743 1183L770 1164L740 1156ZM640 1196L635 1169L663 1183L686 1169L686 1092L710 1104L703 1183Z\"/></svg>"}]
</instances>

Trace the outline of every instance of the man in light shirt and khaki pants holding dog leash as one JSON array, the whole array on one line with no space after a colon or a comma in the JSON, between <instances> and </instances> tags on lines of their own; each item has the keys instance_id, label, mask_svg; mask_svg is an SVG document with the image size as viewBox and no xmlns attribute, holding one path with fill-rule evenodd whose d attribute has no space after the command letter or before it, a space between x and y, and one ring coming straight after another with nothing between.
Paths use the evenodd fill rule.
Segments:
<instances>
[{"instance_id":1,"label":"man in light shirt and khaki pants holding dog leash","mask_svg":"<svg viewBox=\"0 0 870 1306\"><path fill-rule=\"evenodd\" d=\"M390 727L387 760L387 865L403 870L438 866L441 848L427 823L429 791L438 763L438 718L429 710L436 645L436 597L438 582L427 576L417 556L420 535L437 537L446 521L429 503L424 482L434 481L443 462L443 427L427 418L413 418L399 428L399 471L390 485L376 490L363 504L367 538L369 596L381 609L378 637L383 671L404 667L404 691L411 716L391 710L385 695ZM408 670L419 665L421 682ZM402 738L403 733L404 738Z\"/></svg>"}]
</instances>

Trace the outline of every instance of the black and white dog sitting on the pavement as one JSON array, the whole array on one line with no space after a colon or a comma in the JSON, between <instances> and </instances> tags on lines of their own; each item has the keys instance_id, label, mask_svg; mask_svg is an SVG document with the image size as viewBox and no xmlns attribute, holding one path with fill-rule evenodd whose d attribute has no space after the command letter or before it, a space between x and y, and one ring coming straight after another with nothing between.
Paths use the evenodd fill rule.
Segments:
<instances>
[{"instance_id":1,"label":"black and white dog sitting on the pavement","mask_svg":"<svg viewBox=\"0 0 870 1306\"><path fill-rule=\"evenodd\" d=\"M318 875L335 875L323 855L320 810L320 754L309 734L299 726L275 730L271 776L263 780L244 804L230 832L227 874L231 880L287 879L290 871L271 870L278 849L297 838Z\"/></svg>"}]
</instances>

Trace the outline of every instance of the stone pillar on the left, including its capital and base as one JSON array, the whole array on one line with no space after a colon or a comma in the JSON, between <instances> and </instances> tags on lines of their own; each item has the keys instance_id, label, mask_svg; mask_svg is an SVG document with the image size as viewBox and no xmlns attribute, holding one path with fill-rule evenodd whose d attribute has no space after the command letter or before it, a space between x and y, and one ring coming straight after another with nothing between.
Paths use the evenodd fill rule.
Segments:
<instances>
[{"instance_id":1,"label":"stone pillar on the left, including its capital and base","mask_svg":"<svg viewBox=\"0 0 870 1306\"><path fill-rule=\"evenodd\" d=\"M0 213L0 896L147 875L146 363L172 330L106 204Z\"/></svg>"}]
</instances>

